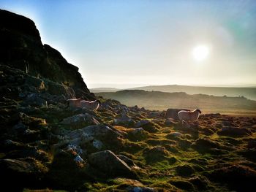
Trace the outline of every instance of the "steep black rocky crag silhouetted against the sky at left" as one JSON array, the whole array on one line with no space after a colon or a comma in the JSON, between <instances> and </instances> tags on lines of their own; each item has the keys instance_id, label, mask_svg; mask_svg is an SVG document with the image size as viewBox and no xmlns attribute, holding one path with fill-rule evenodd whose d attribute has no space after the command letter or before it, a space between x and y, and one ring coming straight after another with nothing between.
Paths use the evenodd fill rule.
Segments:
<instances>
[{"instance_id":1,"label":"steep black rocky crag silhouetted against the sky at left","mask_svg":"<svg viewBox=\"0 0 256 192\"><path fill-rule=\"evenodd\" d=\"M74 89L77 97L94 99L78 67L69 64L61 53L49 45L42 45L39 31L32 20L1 9L0 18L0 63L34 77L65 84Z\"/></svg>"}]
</instances>

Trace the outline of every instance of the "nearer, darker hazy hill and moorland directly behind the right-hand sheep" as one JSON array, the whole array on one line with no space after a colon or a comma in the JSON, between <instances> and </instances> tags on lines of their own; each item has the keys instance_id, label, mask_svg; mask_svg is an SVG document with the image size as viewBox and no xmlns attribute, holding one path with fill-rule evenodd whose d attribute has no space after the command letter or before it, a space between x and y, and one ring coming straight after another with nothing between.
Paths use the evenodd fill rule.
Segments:
<instances>
[{"instance_id":1,"label":"nearer, darker hazy hill and moorland directly behind the right-hand sheep","mask_svg":"<svg viewBox=\"0 0 256 192\"><path fill-rule=\"evenodd\" d=\"M108 99L116 99L128 106L146 107L149 110L167 108L200 108L204 112L222 112L236 114L256 114L256 101L244 96L209 96L206 94L189 95L184 92L166 93L160 91L124 90L116 93L96 93Z\"/></svg>"}]
</instances>

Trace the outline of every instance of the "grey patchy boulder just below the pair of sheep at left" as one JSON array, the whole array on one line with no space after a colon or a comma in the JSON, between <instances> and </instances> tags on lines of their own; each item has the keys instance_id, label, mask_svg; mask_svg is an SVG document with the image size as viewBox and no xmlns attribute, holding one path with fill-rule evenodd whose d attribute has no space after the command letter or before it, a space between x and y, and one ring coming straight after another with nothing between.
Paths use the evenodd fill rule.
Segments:
<instances>
[{"instance_id":1,"label":"grey patchy boulder just below the pair of sheep at left","mask_svg":"<svg viewBox=\"0 0 256 192\"><path fill-rule=\"evenodd\" d=\"M68 128L78 129L89 125L98 125L99 121L97 121L93 116L89 115L88 113L85 113L64 118L64 120L62 120L60 123L67 126Z\"/></svg>"}]
</instances>

